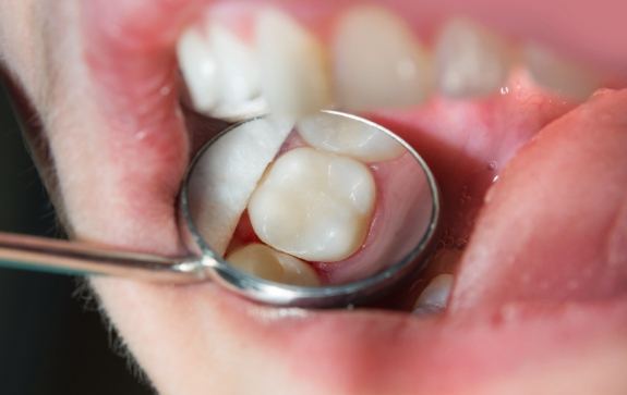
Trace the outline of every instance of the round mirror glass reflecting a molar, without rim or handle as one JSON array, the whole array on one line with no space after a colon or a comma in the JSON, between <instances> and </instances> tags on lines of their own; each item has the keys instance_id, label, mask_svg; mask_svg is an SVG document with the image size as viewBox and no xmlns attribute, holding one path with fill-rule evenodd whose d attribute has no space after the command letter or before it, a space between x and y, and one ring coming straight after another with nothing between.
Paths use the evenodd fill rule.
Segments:
<instances>
[{"instance_id":1,"label":"round mirror glass reflecting a molar, without rim or handle","mask_svg":"<svg viewBox=\"0 0 627 395\"><path fill-rule=\"evenodd\" d=\"M436 210L417 153L338 112L297 127L244 122L194 163L190 212L204 245L274 283L333 286L405 268L424 250Z\"/></svg>"}]
</instances>

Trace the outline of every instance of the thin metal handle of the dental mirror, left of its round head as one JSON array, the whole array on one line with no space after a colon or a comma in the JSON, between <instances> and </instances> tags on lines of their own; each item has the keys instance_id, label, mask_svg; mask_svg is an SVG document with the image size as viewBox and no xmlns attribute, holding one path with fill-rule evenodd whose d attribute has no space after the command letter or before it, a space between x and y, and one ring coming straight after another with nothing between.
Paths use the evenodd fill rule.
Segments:
<instances>
[{"instance_id":1,"label":"thin metal handle of the dental mirror, left of its round head","mask_svg":"<svg viewBox=\"0 0 627 395\"><path fill-rule=\"evenodd\" d=\"M166 258L110 247L0 232L0 267L72 275L109 275L168 284L206 280L198 258Z\"/></svg>"}]
</instances>

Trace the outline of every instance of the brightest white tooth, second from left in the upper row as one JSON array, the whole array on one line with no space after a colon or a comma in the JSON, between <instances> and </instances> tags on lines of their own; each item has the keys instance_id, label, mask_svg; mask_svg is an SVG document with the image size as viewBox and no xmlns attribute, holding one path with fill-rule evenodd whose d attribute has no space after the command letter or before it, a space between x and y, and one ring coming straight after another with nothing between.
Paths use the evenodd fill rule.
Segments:
<instances>
[{"instance_id":1,"label":"brightest white tooth, second from left in the upper row","mask_svg":"<svg viewBox=\"0 0 627 395\"><path fill-rule=\"evenodd\" d=\"M217 22L212 23L208 37L217 62L220 96L212 114L236 119L265 113L267 104L261 97L258 62L252 48Z\"/></svg>"}]
</instances>

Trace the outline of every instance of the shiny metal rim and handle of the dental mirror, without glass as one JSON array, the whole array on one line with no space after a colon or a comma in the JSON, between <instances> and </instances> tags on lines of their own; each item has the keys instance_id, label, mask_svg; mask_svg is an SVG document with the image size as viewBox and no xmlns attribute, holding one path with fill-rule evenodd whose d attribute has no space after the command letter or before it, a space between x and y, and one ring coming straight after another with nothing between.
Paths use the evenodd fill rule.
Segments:
<instances>
[{"instance_id":1,"label":"shiny metal rim and handle of the dental mirror, without glass","mask_svg":"<svg viewBox=\"0 0 627 395\"><path fill-rule=\"evenodd\" d=\"M180 221L183 238L191 243L197 257L159 257L147 254L119 251L106 246L64 242L40 237L0 233L0 266L17 269L41 270L64 274L110 275L169 284L190 284L207 279L249 299L277 306L343 307L359 305L391 287L424 266L427 247L439 220L439 192L431 170L418 152L388 129L352 114L325 111L366 123L387 134L407 149L424 172L431 194L431 217L420 242L401 259L385 270L365 279L319 287L301 287L265 281L248 275L231 267L215 254L200 235L190 213L189 177L196 159L190 165L180 196ZM254 122L256 119L246 122ZM244 122L245 123L245 122ZM224 131L221 135L242 123ZM201 150L202 155L203 150Z\"/></svg>"}]
</instances>

